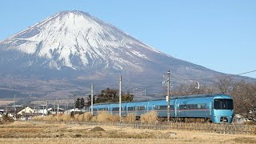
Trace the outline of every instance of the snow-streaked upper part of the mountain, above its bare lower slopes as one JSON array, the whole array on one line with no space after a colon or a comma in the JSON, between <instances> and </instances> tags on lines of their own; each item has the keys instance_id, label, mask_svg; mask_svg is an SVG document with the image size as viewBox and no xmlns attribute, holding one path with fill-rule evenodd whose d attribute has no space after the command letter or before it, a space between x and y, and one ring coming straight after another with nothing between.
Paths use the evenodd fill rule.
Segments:
<instances>
[{"instance_id":1,"label":"snow-streaked upper part of the mountain, above its bare lower slopes","mask_svg":"<svg viewBox=\"0 0 256 144\"><path fill-rule=\"evenodd\" d=\"M101 68L140 72L142 60L152 61L152 55L162 54L81 11L54 14L0 42L0 46L4 47L2 50L18 50L42 59L39 63L30 60L22 66L51 70Z\"/></svg>"}]
</instances>

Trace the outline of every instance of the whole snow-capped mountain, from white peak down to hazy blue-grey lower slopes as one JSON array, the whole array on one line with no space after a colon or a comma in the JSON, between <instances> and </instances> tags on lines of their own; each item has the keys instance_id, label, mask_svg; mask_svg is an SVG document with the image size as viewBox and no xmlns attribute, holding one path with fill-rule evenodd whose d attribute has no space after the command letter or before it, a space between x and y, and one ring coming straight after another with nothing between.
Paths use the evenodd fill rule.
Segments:
<instances>
[{"instance_id":1,"label":"whole snow-capped mountain, from white peak down to hazy blue-grey lower slopes","mask_svg":"<svg viewBox=\"0 0 256 144\"><path fill-rule=\"evenodd\" d=\"M0 67L0 88L19 86L25 94L51 96L82 91L96 81L106 88L120 74L127 86L155 92L162 90L161 78L167 70L183 78L208 81L222 75L163 54L77 10L54 14L2 40Z\"/></svg>"}]
</instances>

